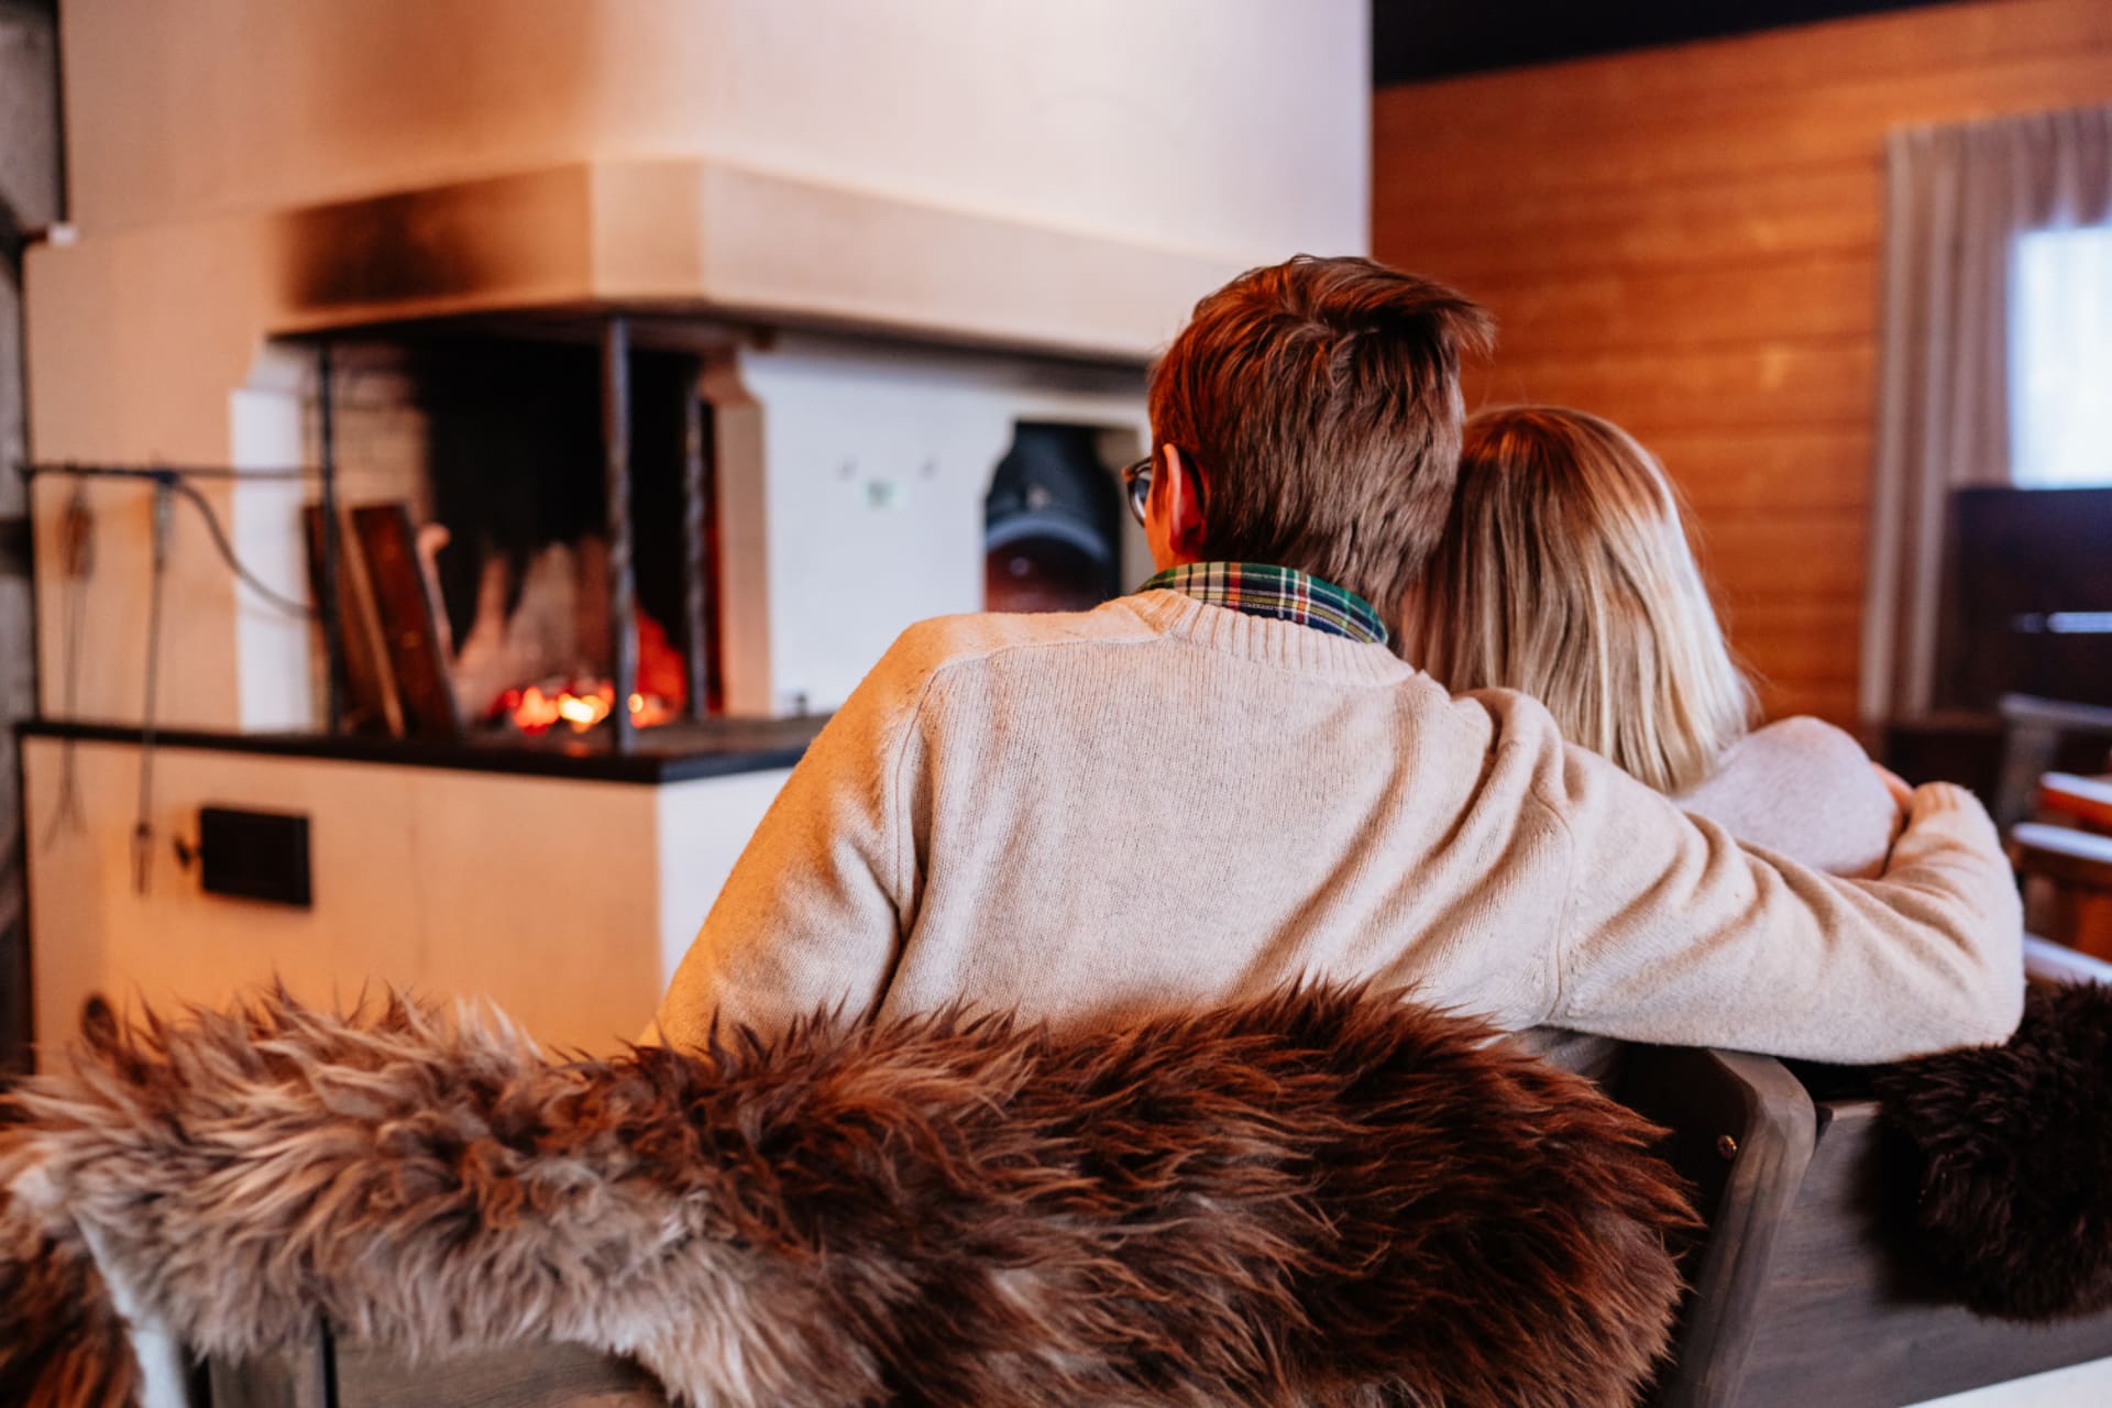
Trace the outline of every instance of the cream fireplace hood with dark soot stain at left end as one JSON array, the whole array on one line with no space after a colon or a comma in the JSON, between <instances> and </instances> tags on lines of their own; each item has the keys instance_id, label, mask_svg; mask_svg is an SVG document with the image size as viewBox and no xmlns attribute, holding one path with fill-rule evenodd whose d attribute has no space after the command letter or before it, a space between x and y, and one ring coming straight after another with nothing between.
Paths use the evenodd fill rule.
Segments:
<instances>
[{"instance_id":1,"label":"cream fireplace hood with dark soot stain at left end","mask_svg":"<svg viewBox=\"0 0 2112 1408\"><path fill-rule=\"evenodd\" d=\"M1238 264L714 160L593 160L287 211L279 331L642 308L1143 361Z\"/></svg>"}]
</instances>

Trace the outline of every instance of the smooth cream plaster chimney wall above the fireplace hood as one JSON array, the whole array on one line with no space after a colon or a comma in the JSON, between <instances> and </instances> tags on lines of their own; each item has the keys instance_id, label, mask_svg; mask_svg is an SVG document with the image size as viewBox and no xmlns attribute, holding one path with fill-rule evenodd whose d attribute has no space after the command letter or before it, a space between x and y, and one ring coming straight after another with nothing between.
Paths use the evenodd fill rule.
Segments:
<instances>
[{"instance_id":1,"label":"smooth cream plaster chimney wall above the fireplace hood","mask_svg":"<svg viewBox=\"0 0 2112 1408\"><path fill-rule=\"evenodd\" d=\"M693 154L1225 255L1362 249L1364 0L72 0L84 230Z\"/></svg>"}]
</instances>

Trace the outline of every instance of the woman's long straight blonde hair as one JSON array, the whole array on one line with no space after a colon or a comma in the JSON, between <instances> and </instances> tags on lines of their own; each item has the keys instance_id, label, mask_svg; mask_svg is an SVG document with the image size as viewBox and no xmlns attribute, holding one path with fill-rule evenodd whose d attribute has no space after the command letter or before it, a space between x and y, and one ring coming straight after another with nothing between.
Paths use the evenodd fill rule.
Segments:
<instances>
[{"instance_id":1,"label":"woman's long straight blonde hair","mask_svg":"<svg viewBox=\"0 0 2112 1408\"><path fill-rule=\"evenodd\" d=\"M1709 777L1755 711L1664 471L1609 420L1554 405L1468 418L1402 648L1451 690L1533 695L1571 743L1668 794Z\"/></svg>"}]
</instances>

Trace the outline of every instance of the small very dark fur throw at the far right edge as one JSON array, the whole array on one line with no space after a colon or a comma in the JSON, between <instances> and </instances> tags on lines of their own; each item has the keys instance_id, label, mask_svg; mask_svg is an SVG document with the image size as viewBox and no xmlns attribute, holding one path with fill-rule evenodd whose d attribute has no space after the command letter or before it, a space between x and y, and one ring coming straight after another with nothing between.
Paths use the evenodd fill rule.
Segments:
<instances>
[{"instance_id":1,"label":"small very dark fur throw at the far right edge","mask_svg":"<svg viewBox=\"0 0 2112 1408\"><path fill-rule=\"evenodd\" d=\"M2112 988L2030 988L2017 1034L1878 1072L1926 1256L1973 1309L2112 1307Z\"/></svg>"}]
</instances>

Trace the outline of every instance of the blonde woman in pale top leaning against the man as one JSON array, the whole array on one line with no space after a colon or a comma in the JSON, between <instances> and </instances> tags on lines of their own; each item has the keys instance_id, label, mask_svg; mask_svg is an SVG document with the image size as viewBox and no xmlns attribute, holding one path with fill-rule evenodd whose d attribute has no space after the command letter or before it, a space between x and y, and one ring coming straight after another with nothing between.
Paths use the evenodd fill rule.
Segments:
<instances>
[{"instance_id":1,"label":"blonde woman in pale top leaning against the man","mask_svg":"<svg viewBox=\"0 0 2112 1408\"><path fill-rule=\"evenodd\" d=\"M1679 498L1620 426L1550 405L1468 418L1445 540L1409 593L1407 659L1453 692L1540 699L1582 743L1740 840L1842 876L1882 870L1899 806L1814 718L1749 732Z\"/></svg>"}]
</instances>

